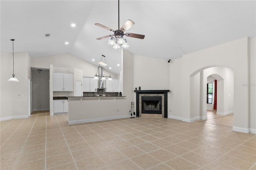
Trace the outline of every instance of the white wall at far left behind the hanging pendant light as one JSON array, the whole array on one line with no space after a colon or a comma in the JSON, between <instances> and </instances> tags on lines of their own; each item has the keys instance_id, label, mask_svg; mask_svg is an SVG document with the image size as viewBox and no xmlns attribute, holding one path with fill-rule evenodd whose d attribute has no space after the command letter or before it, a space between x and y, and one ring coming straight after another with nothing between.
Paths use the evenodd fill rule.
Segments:
<instances>
[{"instance_id":1,"label":"white wall at far left behind the hanging pendant light","mask_svg":"<svg viewBox=\"0 0 256 170\"><path fill-rule=\"evenodd\" d=\"M7 80L12 75L12 53L1 53L1 121L28 117L29 58L27 52L14 53L14 74L19 82L11 82Z\"/></svg>"}]
</instances>

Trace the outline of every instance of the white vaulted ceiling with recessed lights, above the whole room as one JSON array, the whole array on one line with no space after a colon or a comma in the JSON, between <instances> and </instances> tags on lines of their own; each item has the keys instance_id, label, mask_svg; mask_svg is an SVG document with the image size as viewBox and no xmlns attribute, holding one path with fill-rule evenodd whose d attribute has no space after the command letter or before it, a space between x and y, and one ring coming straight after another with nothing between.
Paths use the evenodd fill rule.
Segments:
<instances>
[{"instance_id":1,"label":"white vaulted ceiling with recessed lights, above the whole room","mask_svg":"<svg viewBox=\"0 0 256 170\"><path fill-rule=\"evenodd\" d=\"M112 34L95 23L118 29L117 0L0 1L1 52L28 51L30 57L72 53L91 63L106 56L119 73L121 51L108 45ZM120 0L120 26L135 22L128 32L128 51L148 57L176 59L182 55L256 33L256 1ZM75 23L72 28L70 24ZM45 34L51 36L46 38ZM65 45L64 42L69 44ZM95 61L92 61L95 59Z\"/></svg>"}]
</instances>

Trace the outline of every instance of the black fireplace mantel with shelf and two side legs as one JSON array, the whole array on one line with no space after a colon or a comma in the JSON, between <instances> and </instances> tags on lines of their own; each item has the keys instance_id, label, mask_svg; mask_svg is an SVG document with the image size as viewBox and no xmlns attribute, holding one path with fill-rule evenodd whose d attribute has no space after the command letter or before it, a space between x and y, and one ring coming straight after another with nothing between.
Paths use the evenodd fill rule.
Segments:
<instances>
[{"instance_id":1,"label":"black fireplace mantel with shelf and two side legs","mask_svg":"<svg viewBox=\"0 0 256 170\"><path fill-rule=\"evenodd\" d=\"M170 92L170 90L134 90L134 92L136 92L136 117L140 117L140 94L164 94L164 118L168 118L167 93Z\"/></svg>"}]
</instances>

